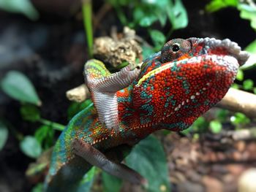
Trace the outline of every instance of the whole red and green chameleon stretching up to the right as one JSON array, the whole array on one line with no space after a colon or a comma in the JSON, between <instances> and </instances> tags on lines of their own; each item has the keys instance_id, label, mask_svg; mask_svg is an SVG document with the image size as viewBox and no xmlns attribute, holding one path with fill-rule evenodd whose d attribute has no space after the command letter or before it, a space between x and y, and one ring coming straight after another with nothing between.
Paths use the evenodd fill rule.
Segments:
<instances>
[{"instance_id":1,"label":"whole red and green chameleon stretching up to the right","mask_svg":"<svg viewBox=\"0 0 256 192\"><path fill-rule=\"evenodd\" d=\"M249 55L229 39L173 39L138 66L110 74L85 64L94 106L70 120L53 150L45 191L81 191L91 166L145 184L121 164L124 152L159 129L181 131L227 93ZM138 162L139 163L139 162Z\"/></svg>"}]
</instances>

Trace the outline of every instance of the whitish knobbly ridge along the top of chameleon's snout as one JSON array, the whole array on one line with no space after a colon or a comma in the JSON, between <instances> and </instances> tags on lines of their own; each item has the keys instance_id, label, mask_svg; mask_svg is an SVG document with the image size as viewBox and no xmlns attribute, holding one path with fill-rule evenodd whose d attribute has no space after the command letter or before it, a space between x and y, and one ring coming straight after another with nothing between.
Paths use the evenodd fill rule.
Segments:
<instances>
[{"instance_id":1,"label":"whitish knobbly ridge along the top of chameleon's snout","mask_svg":"<svg viewBox=\"0 0 256 192\"><path fill-rule=\"evenodd\" d=\"M194 38L190 38L194 39ZM197 39L197 38L196 38ZM237 59L239 66L242 66L245 64L245 62L249 58L249 53L246 51L242 51L241 47L238 46L236 42L231 42L230 39L215 39L215 38L200 38L197 39L198 44L203 44L203 50L206 51L210 48L211 50L217 49L217 48L225 48L227 50L227 53L229 55L233 56Z\"/></svg>"}]
</instances>

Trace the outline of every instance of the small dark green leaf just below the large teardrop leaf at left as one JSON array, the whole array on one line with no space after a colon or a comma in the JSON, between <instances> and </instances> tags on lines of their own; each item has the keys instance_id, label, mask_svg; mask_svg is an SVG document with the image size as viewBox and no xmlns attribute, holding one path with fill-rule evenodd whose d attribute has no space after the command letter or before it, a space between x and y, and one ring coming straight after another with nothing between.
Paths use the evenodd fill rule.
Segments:
<instances>
[{"instance_id":1,"label":"small dark green leaf just below the large teardrop leaf at left","mask_svg":"<svg viewBox=\"0 0 256 192\"><path fill-rule=\"evenodd\" d=\"M40 112L38 108L32 104L23 104L20 107L20 114L23 120L35 122L40 119Z\"/></svg>"}]
</instances>

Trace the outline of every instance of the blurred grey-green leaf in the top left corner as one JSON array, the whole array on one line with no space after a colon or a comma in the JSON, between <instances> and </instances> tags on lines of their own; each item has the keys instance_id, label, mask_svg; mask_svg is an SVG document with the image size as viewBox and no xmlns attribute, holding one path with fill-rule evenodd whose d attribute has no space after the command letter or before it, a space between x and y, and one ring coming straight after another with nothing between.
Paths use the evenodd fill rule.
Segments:
<instances>
[{"instance_id":1,"label":"blurred grey-green leaf in the top left corner","mask_svg":"<svg viewBox=\"0 0 256 192\"><path fill-rule=\"evenodd\" d=\"M39 13L29 0L0 0L0 8L7 12L17 12L26 15L31 20L37 20Z\"/></svg>"}]
</instances>

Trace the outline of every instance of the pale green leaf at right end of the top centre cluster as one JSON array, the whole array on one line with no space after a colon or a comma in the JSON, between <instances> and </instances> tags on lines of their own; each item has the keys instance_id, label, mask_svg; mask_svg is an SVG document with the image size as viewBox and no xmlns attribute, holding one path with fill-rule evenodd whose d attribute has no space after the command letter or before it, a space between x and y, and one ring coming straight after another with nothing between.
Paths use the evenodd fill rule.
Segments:
<instances>
[{"instance_id":1,"label":"pale green leaf at right end of the top centre cluster","mask_svg":"<svg viewBox=\"0 0 256 192\"><path fill-rule=\"evenodd\" d=\"M174 4L172 1L169 1L166 8L168 18L173 26L173 30L187 27L189 20L187 18L187 11L181 0L174 0Z\"/></svg>"}]
</instances>

